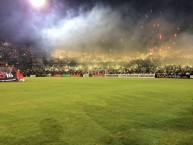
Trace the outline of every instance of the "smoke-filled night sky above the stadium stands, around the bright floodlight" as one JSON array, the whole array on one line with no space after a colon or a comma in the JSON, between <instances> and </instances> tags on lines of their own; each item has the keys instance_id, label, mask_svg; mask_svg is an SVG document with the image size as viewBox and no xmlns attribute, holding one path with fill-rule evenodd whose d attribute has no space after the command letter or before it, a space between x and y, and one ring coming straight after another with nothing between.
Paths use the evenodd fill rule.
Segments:
<instances>
[{"instance_id":1,"label":"smoke-filled night sky above the stadium stands, around the bright floodlight","mask_svg":"<svg viewBox=\"0 0 193 145\"><path fill-rule=\"evenodd\" d=\"M45 49L192 50L192 36L192 0L48 0L41 8L0 1L0 40Z\"/></svg>"}]
</instances>

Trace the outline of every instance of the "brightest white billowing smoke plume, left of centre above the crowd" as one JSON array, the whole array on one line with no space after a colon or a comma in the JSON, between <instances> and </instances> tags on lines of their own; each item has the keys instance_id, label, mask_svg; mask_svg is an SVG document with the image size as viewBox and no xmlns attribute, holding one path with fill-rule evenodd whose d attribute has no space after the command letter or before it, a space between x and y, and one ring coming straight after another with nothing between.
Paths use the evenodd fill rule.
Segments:
<instances>
[{"instance_id":1,"label":"brightest white billowing smoke plume, left of centre above the crowd","mask_svg":"<svg viewBox=\"0 0 193 145\"><path fill-rule=\"evenodd\" d=\"M63 49L109 49L114 39L121 38L123 20L118 11L110 7L94 7L70 19L63 19L57 25L42 30L44 44ZM104 46L102 46L104 43ZM112 44L111 44L112 43Z\"/></svg>"}]
</instances>

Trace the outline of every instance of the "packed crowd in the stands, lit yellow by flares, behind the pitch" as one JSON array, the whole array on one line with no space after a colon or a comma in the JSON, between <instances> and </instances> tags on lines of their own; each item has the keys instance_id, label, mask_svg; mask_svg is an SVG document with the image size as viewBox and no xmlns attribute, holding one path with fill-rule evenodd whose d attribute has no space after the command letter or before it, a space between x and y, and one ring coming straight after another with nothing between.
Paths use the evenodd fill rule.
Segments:
<instances>
[{"instance_id":1,"label":"packed crowd in the stands, lit yellow by flares, behind the pitch","mask_svg":"<svg viewBox=\"0 0 193 145\"><path fill-rule=\"evenodd\" d=\"M125 62L80 62L74 58L54 58L42 49L28 45L13 45L0 41L0 66L8 63L20 69L24 76L54 76L80 74L156 74L157 77L193 75L190 65L162 65L159 59L133 59Z\"/></svg>"}]
</instances>

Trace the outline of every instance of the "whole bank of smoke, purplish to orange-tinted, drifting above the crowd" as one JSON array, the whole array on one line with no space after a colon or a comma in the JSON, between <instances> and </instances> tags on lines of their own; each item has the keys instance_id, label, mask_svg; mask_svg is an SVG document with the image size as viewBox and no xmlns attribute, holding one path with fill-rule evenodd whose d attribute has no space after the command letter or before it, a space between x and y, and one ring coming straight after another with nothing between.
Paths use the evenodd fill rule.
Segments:
<instances>
[{"instance_id":1,"label":"whole bank of smoke, purplish to orange-tinted, drifting above the crowd","mask_svg":"<svg viewBox=\"0 0 193 145\"><path fill-rule=\"evenodd\" d=\"M17 1L23 4L23 0ZM12 2L4 0L0 5L0 32L16 42L30 40L48 51L63 49L132 54L174 41L175 49L192 50L192 34L181 28L186 18L172 21L172 13L159 15L153 10L142 13L131 5L116 9L95 5L89 9L81 7L77 11L65 8L62 3L54 3L54 8L38 11L27 7L27 4L19 8L11 5ZM3 8L7 5L11 5L12 13ZM177 38L174 38L175 33ZM162 40L159 40L160 36Z\"/></svg>"}]
</instances>

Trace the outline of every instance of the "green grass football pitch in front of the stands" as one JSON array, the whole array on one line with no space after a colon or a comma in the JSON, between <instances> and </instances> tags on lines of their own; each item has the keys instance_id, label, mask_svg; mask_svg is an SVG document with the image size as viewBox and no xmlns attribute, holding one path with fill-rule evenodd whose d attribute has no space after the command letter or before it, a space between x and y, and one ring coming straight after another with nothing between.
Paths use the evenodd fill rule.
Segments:
<instances>
[{"instance_id":1,"label":"green grass football pitch in front of the stands","mask_svg":"<svg viewBox=\"0 0 193 145\"><path fill-rule=\"evenodd\" d=\"M0 145L192 145L193 80L0 83Z\"/></svg>"}]
</instances>

